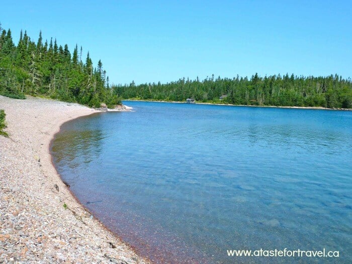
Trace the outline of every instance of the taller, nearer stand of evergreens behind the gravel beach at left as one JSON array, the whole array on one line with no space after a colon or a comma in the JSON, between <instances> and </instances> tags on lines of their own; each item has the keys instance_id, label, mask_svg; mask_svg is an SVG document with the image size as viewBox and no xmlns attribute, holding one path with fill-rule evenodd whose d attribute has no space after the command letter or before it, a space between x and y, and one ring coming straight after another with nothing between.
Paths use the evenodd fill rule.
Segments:
<instances>
[{"instance_id":1,"label":"taller, nearer stand of evergreens behind the gravel beach at left","mask_svg":"<svg viewBox=\"0 0 352 264\"><path fill-rule=\"evenodd\" d=\"M102 62L94 68L89 53L82 62L77 45L71 56L68 46L58 45L56 39L43 44L41 32L35 43L21 31L17 46L10 29L2 30L0 24L0 33L0 95L18 99L25 99L24 94L45 95L93 107L102 102L109 108L121 104Z\"/></svg>"}]
</instances>

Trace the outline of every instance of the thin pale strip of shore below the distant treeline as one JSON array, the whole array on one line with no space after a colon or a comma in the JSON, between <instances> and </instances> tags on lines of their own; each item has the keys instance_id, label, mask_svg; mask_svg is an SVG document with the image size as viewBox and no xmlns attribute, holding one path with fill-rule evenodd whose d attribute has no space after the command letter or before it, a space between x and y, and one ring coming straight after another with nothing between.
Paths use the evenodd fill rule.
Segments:
<instances>
[{"instance_id":1,"label":"thin pale strip of shore below the distant treeline","mask_svg":"<svg viewBox=\"0 0 352 264\"><path fill-rule=\"evenodd\" d=\"M178 101L156 101L156 100L133 100L123 99L122 101L132 102L156 102L156 103L174 103L174 104L189 104L187 102ZM339 110L339 111L352 111L349 108L327 108L327 107L305 107L305 106L251 106L251 105L233 105L233 104L213 104L213 103L195 103L196 105L214 105L214 106L240 106L240 107L265 107L265 108L291 108L291 109L313 109L313 110ZM193 105L193 104L190 104Z\"/></svg>"}]
</instances>

